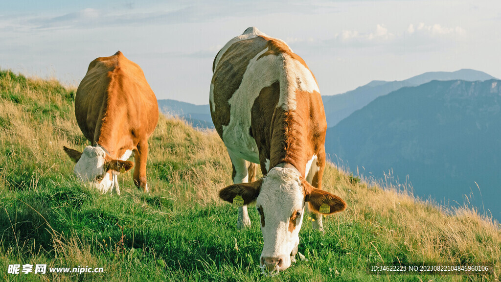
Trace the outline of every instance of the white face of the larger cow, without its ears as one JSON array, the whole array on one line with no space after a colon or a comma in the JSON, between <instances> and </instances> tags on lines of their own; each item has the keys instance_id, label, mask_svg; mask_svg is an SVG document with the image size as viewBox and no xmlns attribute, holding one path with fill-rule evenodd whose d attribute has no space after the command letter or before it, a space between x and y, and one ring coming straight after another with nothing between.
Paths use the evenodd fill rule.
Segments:
<instances>
[{"instance_id":1,"label":"white face of the larger cow, without its ears","mask_svg":"<svg viewBox=\"0 0 501 282\"><path fill-rule=\"evenodd\" d=\"M282 269L291 265L290 254L299 244L305 206L300 176L292 168L272 168L263 177L256 201L256 207L262 207L265 215L265 227L261 226L264 241L261 258L282 259ZM297 219L296 228L290 232L289 220L297 210L301 211L301 215Z\"/></svg>"}]
</instances>

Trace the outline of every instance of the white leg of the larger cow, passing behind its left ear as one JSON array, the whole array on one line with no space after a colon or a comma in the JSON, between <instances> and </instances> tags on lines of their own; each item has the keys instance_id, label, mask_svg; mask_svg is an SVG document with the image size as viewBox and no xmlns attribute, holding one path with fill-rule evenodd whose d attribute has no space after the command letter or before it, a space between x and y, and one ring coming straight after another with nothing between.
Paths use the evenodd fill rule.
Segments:
<instances>
[{"instance_id":1,"label":"white leg of the larger cow, passing behind its left ear","mask_svg":"<svg viewBox=\"0 0 501 282\"><path fill-rule=\"evenodd\" d=\"M231 164L233 166L233 173L231 174L233 179L233 184L248 182L249 180L248 172L251 171L251 168L253 169L252 171L254 172L254 174L251 174L251 180L252 181L256 180L256 173L255 173L256 166L254 164L251 164L245 161L244 159L235 156L229 150L228 154L229 158L231 159ZM254 180L252 178L254 178ZM236 227L237 228L250 227L250 219L247 213L247 206L238 208L238 220L236 222Z\"/></svg>"}]
</instances>

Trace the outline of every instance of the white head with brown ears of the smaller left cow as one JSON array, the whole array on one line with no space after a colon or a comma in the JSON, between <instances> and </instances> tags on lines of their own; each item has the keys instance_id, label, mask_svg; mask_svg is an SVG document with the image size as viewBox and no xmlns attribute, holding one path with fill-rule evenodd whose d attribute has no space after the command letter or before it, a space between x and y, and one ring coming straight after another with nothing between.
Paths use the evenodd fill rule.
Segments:
<instances>
[{"instance_id":1,"label":"white head with brown ears of the smaller left cow","mask_svg":"<svg viewBox=\"0 0 501 282\"><path fill-rule=\"evenodd\" d=\"M83 182L95 185L102 193L111 191L118 183L115 175L127 172L134 164L113 160L100 146L87 146L84 152L63 147L75 165L75 175Z\"/></svg>"}]
</instances>

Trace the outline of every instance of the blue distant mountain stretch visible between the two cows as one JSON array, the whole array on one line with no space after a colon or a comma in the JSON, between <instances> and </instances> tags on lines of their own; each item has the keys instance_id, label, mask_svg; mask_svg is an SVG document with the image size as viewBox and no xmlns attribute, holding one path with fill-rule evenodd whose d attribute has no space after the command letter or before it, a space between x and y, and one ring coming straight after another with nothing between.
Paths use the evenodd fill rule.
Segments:
<instances>
[{"instance_id":1,"label":"blue distant mountain stretch visible between the two cows","mask_svg":"<svg viewBox=\"0 0 501 282\"><path fill-rule=\"evenodd\" d=\"M194 127L214 128L208 104L195 105L171 99L164 99L158 100L158 108L164 114L175 115L185 119Z\"/></svg>"}]
</instances>

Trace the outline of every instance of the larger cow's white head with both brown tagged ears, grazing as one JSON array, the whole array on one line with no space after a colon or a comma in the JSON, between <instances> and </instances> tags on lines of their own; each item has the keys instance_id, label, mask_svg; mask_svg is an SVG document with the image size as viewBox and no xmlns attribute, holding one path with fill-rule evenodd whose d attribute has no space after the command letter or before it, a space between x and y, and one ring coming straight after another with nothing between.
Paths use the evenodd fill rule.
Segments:
<instances>
[{"instance_id":1,"label":"larger cow's white head with both brown tagged ears, grazing","mask_svg":"<svg viewBox=\"0 0 501 282\"><path fill-rule=\"evenodd\" d=\"M317 213L323 204L329 206L325 214L346 208L341 198L313 187L293 168L275 167L258 181L230 185L219 191L219 197L230 203L238 195L244 205L256 201L264 240L260 264L270 272L291 265L291 256L296 255L299 244L306 202L310 211Z\"/></svg>"}]
</instances>

